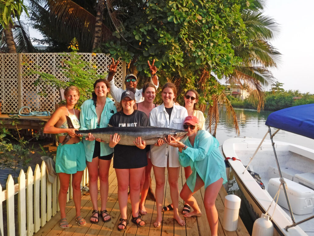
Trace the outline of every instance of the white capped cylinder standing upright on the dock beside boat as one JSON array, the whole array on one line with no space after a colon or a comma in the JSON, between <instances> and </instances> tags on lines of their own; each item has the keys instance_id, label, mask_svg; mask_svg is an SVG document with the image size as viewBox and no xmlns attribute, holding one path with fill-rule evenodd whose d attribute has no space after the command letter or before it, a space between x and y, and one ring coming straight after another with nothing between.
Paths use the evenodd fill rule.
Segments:
<instances>
[{"instance_id":1,"label":"white capped cylinder standing upright on the dock beside boat","mask_svg":"<svg viewBox=\"0 0 314 236\"><path fill-rule=\"evenodd\" d=\"M238 226L241 198L234 194L225 196L225 211L222 227L227 231L235 231Z\"/></svg>"}]
</instances>

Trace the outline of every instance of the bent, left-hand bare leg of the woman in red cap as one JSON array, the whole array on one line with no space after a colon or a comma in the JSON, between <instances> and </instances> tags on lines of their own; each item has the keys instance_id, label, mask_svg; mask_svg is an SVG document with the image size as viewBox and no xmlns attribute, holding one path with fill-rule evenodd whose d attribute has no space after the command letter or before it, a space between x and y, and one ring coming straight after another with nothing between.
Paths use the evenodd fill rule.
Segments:
<instances>
[{"instance_id":1,"label":"bent, left-hand bare leg of the woman in red cap","mask_svg":"<svg viewBox=\"0 0 314 236\"><path fill-rule=\"evenodd\" d=\"M202 186L204 185L203 180L201 177L197 175L196 177L196 182L195 182L195 188L194 192L190 190L190 188L187 186L187 183L183 185L183 188L180 193L180 197L187 203L189 204L193 211L186 213L184 217L191 217L191 216L201 216L202 212L198 207L198 204L196 202L196 199L193 197L193 194L195 194Z\"/></svg>"}]
</instances>

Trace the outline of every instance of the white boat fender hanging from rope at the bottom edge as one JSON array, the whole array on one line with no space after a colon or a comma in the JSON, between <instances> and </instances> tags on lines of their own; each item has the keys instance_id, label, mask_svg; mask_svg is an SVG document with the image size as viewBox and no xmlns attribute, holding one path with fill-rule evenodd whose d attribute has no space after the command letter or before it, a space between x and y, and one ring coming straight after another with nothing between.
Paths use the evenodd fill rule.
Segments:
<instances>
[{"instance_id":1,"label":"white boat fender hanging from rope at the bottom edge","mask_svg":"<svg viewBox=\"0 0 314 236\"><path fill-rule=\"evenodd\" d=\"M269 216L262 213L253 224L252 236L273 236L274 226Z\"/></svg>"}]
</instances>

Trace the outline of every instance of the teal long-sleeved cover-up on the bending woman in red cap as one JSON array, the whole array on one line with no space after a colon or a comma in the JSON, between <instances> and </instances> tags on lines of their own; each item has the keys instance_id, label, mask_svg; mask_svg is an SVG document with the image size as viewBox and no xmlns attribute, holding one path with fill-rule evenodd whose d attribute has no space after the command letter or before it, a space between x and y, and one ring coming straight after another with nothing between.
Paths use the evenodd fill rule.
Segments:
<instances>
[{"instance_id":1,"label":"teal long-sleeved cover-up on the bending woman in red cap","mask_svg":"<svg viewBox=\"0 0 314 236\"><path fill-rule=\"evenodd\" d=\"M199 130L192 147L189 138L186 137L183 143L187 149L179 152L179 162L181 166L191 166L192 174L187 178L187 186L193 192L197 174L204 181L206 189L208 185L216 182L220 178L227 183L225 161L219 151L219 142L208 131Z\"/></svg>"}]
</instances>

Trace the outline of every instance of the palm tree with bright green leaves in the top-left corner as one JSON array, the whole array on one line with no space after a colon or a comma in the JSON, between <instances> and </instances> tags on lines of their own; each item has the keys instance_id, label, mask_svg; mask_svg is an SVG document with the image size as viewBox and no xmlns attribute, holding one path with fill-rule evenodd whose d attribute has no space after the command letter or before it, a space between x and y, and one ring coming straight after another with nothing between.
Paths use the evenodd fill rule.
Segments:
<instances>
[{"instance_id":1,"label":"palm tree with bright green leaves in the top-left corner","mask_svg":"<svg viewBox=\"0 0 314 236\"><path fill-rule=\"evenodd\" d=\"M14 20L17 18L19 20L20 15L22 14L23 10L28 15L27 7L23 4L23 0L14 0L12 2L0 0L0 25L3 27L0 28L0 31L3 31L4 39L0 40L0 48L7 46L9 53L16 53L16 47L14 42L14 35L12 29L15 30L15 27L20 26L22 32L25 31L24 27L19 22L19 24L15 23ZM16 34L19 34L18 31ZM20 35L20 34L19 34ZM21 38L18 39L20 42Z\"/></svg>"}]
</instances>

